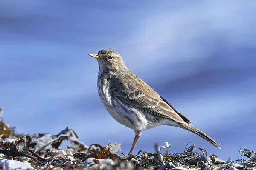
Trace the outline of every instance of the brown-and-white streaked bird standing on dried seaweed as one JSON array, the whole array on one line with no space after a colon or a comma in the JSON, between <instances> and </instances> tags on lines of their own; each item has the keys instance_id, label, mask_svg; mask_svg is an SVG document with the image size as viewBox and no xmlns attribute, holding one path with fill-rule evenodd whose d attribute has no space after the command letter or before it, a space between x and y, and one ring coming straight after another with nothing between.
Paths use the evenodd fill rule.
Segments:
<instances>
[{"instance_id":1,"label":"brown-and-white streaked bird standing on dried seaweed","mask_svg":"<svg viewBox=\"0 0 256 170\"><path fill-rule=\"evenodd\" d=\"M188 130L220 149L217 141L193 127L186 116L129 71L119 53L105 49L88 55L98 61L98 94L105 109L117 122L135 132L128 156L132 155L143 130L160 125Z\"/></svg>"}]
</instances>

